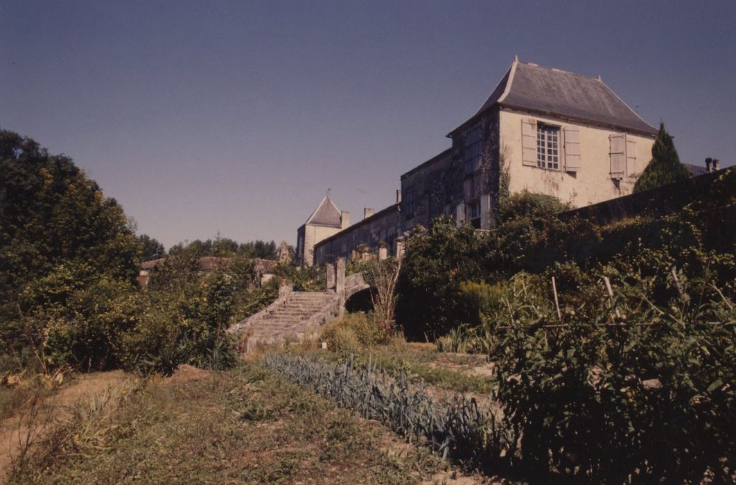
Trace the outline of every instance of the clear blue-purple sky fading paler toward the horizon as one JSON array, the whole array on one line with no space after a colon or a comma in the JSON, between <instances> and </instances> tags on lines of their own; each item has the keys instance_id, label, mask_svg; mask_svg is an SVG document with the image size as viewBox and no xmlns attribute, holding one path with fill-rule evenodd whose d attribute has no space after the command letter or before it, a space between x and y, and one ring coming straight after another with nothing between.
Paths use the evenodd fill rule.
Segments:
<instances>
[{"instance_id":1,"label":"clear blue-purple sky fading paler toward the horizon","mask_svg":"<svg viewBox=\"0 0 736 485\"><path fill-rule=\"evenodd\" d=\"M736 1L0 0L0 129L166 247L295 244L450 146L514 56L606 84L685 163L736 162Z\"/></svg>"}]
</instances>

